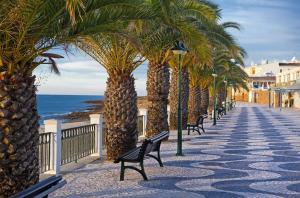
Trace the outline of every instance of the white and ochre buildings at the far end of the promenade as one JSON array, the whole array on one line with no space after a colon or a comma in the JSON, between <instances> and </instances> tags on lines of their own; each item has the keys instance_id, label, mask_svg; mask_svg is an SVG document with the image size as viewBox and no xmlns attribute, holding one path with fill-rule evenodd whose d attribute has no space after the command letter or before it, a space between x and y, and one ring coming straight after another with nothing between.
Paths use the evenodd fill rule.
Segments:
<instances>
[{"instance_id":1,"label":"white and ochre buildings at the far end of the promenade","mask_svg":"<svg viewBox=\"0 0 300 198\"><path fill-rule=\"evenodd\" d=\"M286 98L291 98L287 93L287 87L295 84L300 78L300 63L293 58L290 62L273 62L263 61L260 65L246 67L245 72L248 74L248 89L239 90L235 93L236 101L265 104L274 107L286 104ZM298 72L298 73L297 73ZM283 92L283 89L285 92ZM280 90L280 93L279 93ZM297 93L293 94L297 95ZM296 97L287 104L295 104ZM298 102L296 102L298 106ZM295 105L294 105L295 106ZM300 104L299 104L300 107Z\"/></svg>"}]
</instances>

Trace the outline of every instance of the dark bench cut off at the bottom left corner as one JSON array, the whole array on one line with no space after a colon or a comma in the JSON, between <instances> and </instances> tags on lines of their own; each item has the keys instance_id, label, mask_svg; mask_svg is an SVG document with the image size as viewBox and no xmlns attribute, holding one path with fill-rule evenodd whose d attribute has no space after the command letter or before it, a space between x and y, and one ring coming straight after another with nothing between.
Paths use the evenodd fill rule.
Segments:
<instances>
[{"instance_id":1,"label":"dark bench cut off at the bottom left corner","mask_svg":"<svg viewBox=\"0 0 300 198\"><path fill-rule=\"evenodd\" d=\"M62 180L62 176L52 176L44 179L29 188L11 196L11 198L45 198L51 192L54 192L58 188L61 188L66 184L65 180Z\"/></svg>"}]
</instances>

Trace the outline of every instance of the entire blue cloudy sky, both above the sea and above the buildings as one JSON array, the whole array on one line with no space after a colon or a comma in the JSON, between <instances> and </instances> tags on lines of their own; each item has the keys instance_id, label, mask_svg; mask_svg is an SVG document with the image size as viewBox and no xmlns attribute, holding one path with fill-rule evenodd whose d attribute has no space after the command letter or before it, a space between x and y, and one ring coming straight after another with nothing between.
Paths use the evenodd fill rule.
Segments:
<instances>
[{"instance_id":1,"label":"entire blue cloudy sky, both above the sea and above the buildings","mask_svg":"<svg viewBox=\"0 0 300 198\"><path fill-rule=\"evenodd\" d=\"M235 21L242 30L232 31L246 49L246 64L262 60L300 59L300 0L212 0L222 9L222 21ZM78 50L58 60L61 75L47 66L36 71L38 94L104 95L107 73ZM138 95L146 95L147 62L134 71Z\"/></svg>"}]
</instances>

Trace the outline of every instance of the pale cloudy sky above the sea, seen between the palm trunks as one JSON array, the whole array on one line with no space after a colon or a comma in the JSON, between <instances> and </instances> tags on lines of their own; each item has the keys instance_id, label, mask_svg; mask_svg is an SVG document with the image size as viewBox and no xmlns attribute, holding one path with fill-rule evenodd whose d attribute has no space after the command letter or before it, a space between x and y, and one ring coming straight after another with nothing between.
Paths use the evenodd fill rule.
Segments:
<instances>
[{"instance_id":1,"label":"pale cloudy sky above the sea, seen between the palm trunks","mask_svg":"<svg viewBox=\"0 0 300 198\"><path fill-rule=\"evenodd\" d=\"M40 66L34 74L38 76L39 94L104 95L108 74L94 60L79 60L58 63L61 75L50 73ZM147 63L134 72L138 95L146 95Z\"/></svg>"}]
</instances>

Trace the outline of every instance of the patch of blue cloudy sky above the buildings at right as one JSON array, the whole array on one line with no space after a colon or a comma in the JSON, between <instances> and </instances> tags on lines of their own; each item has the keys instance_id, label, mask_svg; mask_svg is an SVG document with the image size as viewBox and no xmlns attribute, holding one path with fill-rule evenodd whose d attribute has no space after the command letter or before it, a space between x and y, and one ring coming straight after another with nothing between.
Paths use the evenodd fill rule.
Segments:
<instances>
[{"instance_id":1,"label":"patch of blue cloudy sky above the buildings at right","mask_svg":"<svg viewBox=\"0 0 300 198\"><path fill-rule=\"evenodd\" d=\"M249 64L269 59L300 57L299 1L215 0L223 9L223 21L236 21L241 32L232 31L248 52Z\"/></svg>"}]
</instances>

